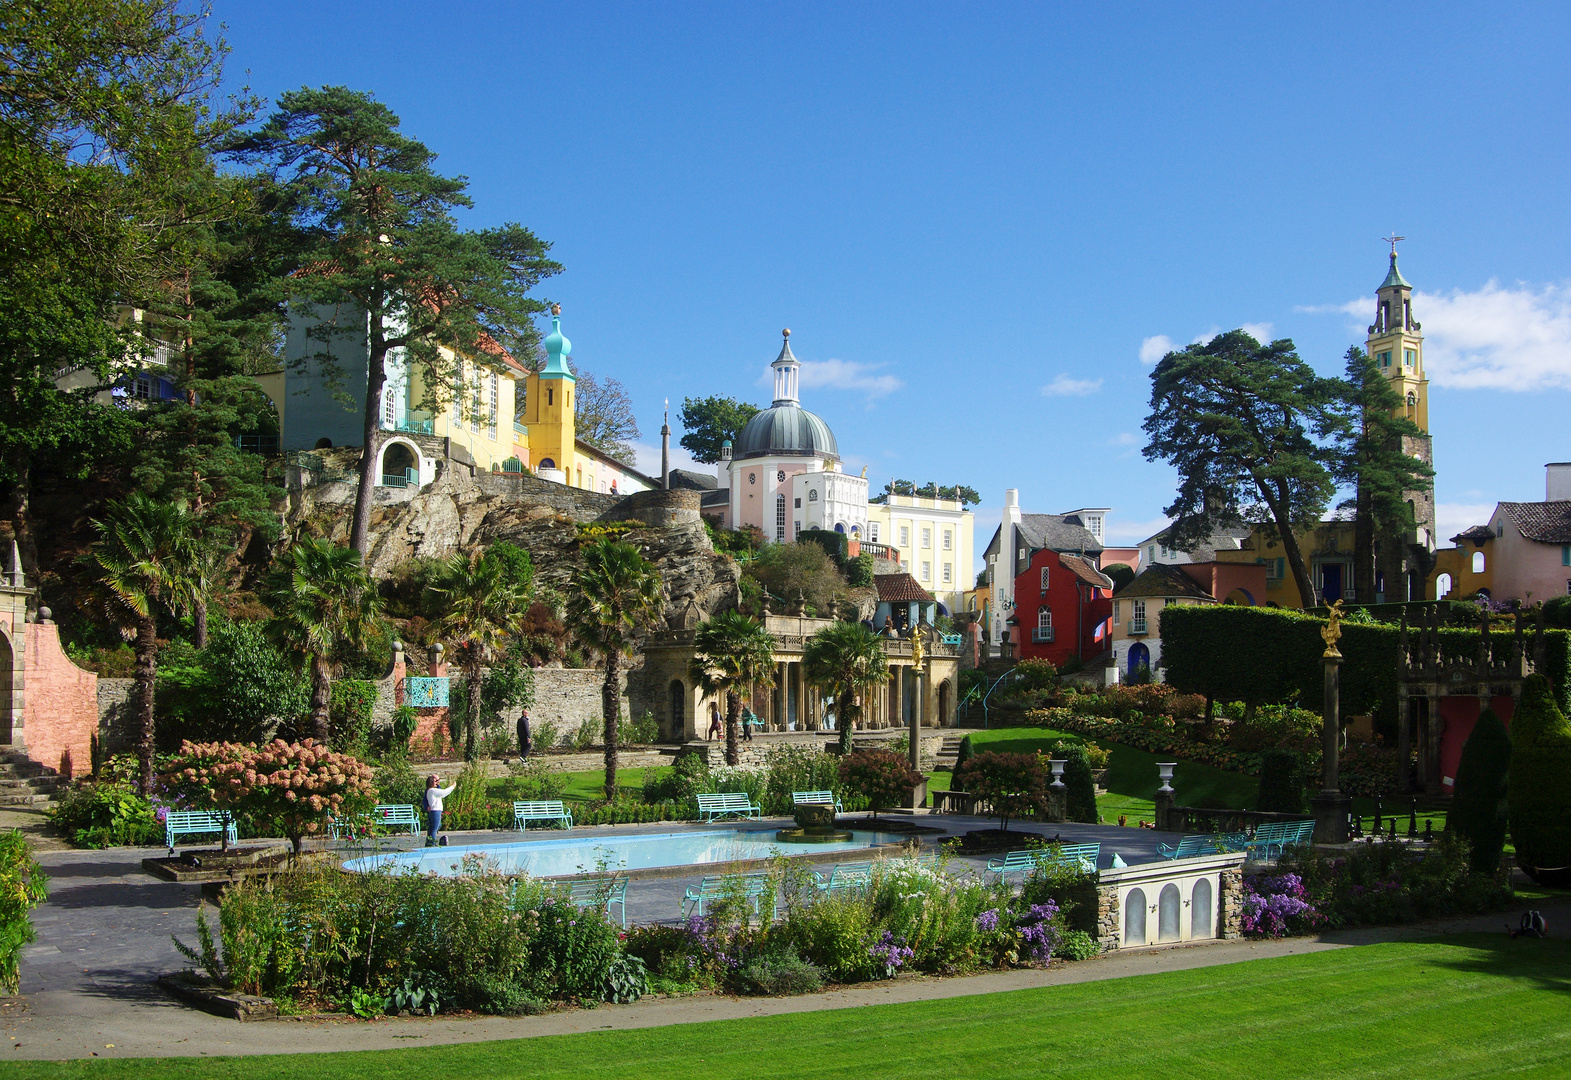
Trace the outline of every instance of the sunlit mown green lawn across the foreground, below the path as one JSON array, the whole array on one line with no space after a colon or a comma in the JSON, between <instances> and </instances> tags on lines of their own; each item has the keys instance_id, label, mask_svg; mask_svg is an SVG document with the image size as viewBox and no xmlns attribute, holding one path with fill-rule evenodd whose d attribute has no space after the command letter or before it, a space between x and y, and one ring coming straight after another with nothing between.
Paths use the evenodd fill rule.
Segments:
<instances>
[{"instance_id":1,"label":"sunlit mown green lawn across the foreground, below the path","mask_svg":"<svg viewBox=\"0 0 1571 1080\"><path fill-rule=\"evenodd\" d=\"M639 1031L361 1053L16 1061L0 1063L0 1077L1565 1077L1568 973L1571 943L1467 934Z\"/></svg>"}]
</instances>

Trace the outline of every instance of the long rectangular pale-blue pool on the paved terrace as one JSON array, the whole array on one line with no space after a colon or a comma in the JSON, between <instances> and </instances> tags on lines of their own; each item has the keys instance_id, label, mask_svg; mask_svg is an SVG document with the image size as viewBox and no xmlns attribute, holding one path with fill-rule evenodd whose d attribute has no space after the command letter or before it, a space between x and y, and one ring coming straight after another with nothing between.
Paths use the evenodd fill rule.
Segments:
<instances>
[{"instance_id":1,"label":"long rectangular pale-blue pool on the paved terrace","mask_svg":"<svg viewBox=\"0 0 1571 1080\"><path fill-rule=\"evenodd\" d=\"M407 852L366 855L344 863L344 869L390 869L404 874L462 872L465 855L482 855L487 869L531 877L594 874L605 869L652 869L657 866L699 866L776 854L867 850L878 844L906 839L903 833L855 830L851 838L831 844L782 844L775 828L705 828L683 833L643 833L636 836L573 836L533 839L517 844L470 844L467 847L421 847Z\"/></svg>"}]
</instances>

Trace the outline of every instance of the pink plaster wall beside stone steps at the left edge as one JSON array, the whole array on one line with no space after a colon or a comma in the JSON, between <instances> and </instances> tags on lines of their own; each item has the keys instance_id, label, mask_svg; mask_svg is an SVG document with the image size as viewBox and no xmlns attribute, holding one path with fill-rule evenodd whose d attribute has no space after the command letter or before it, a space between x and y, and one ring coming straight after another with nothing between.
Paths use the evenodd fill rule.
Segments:
<instances>
[{"instance_id":1,"label":"pink plaster wall beside stone steps at the left edge","mask_svg":"<svg viewBox=\"0 0 1571 1080\"><path fill-rule=\"evenodd\" d=\"M60 648L60 627L28 623L24 673L22 739L27 756L80 777L93 770L97 734L97 676L83 671Z\"/></svg>"}]
</instances>

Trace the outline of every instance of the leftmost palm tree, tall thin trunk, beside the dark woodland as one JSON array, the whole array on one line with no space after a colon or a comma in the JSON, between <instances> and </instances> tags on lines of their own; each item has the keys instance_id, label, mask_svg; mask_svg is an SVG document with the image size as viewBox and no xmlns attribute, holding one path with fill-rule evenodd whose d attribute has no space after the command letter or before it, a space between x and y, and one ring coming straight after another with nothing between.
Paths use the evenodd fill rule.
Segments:
<instances>
[{"instance_id":1,"label":"leftmost palm tree, tall thin trunk, beside the dark woodland","mask_svg":"<svg viewBox=\"0 0 1571 1080\"><path fill-rule=\"evenodd\" d=\"M93 561L110 593L110 608L137 651L137 756L141 792L152 791L152 689L159 679L159 608L174 612L187 593L195 560L193 519L184 503L135 492L112 501L93 522Z\"/></svg>"}]
</instances>

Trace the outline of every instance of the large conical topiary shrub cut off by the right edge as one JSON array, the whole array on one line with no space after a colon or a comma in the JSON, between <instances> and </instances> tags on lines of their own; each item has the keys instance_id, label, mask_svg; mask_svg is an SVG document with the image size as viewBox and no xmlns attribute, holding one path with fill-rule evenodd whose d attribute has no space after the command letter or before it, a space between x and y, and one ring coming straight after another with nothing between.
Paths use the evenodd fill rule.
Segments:
<instances>
[{"instance_id":1,"label":"large conical topiary shrub cut off by the right edge","mask_svg":"<svg viewBox=\"0 0 1571 1080\"><path fill-rule=\"evenodd\" d=\"M1511 717L1511 843L1540 885L1571 885L1571 723L1541 674L1527 676Z\"/></svg>"}]
</instances>

